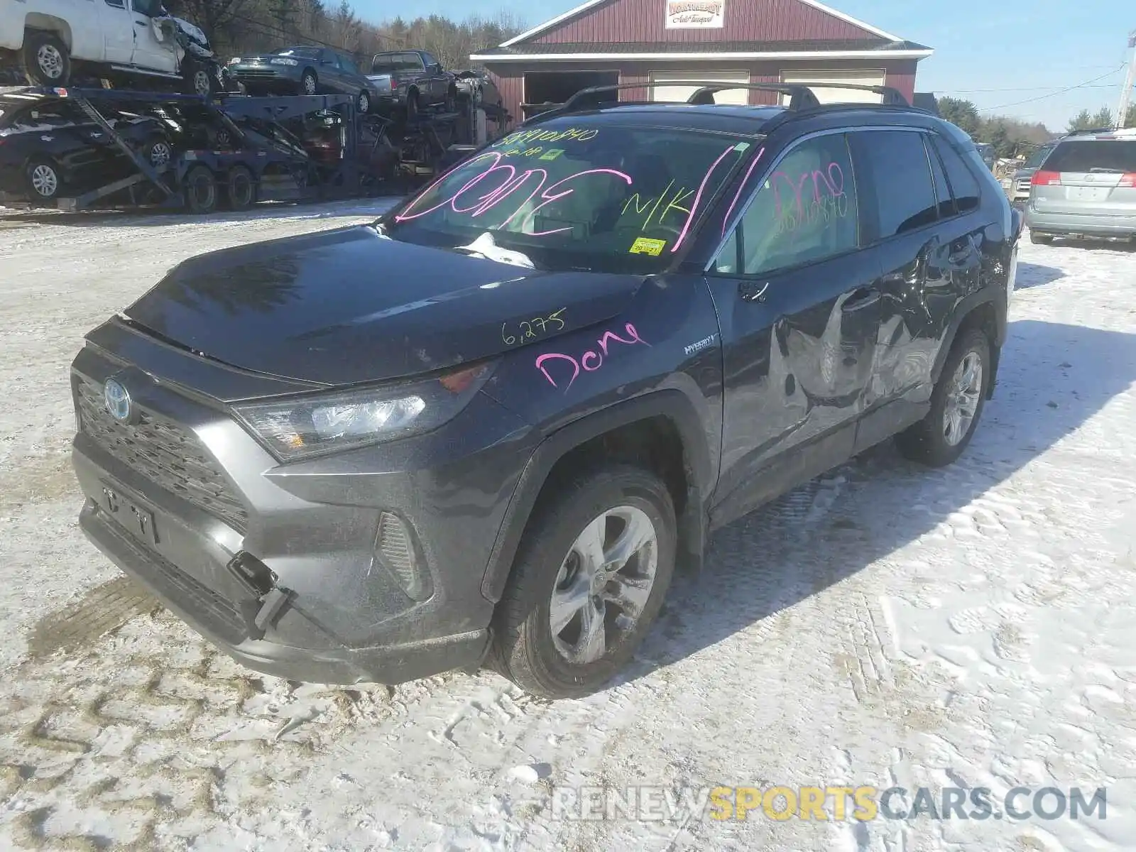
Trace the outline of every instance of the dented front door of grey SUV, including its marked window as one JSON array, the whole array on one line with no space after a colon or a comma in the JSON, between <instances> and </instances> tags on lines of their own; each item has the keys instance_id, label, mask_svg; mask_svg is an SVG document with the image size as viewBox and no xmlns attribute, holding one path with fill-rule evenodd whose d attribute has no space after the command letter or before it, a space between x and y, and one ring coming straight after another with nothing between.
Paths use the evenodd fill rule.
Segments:
<instances>
[{"instance_id":1,"label":"dented front door of grey SUV, including its marked window","mask_svg":"<svg viewBox=\"0 0 1136 852\"><path fill-rule=\"evenodd\" d=\"M726 384L716 523L852 453L880 311L878 259L859 250L855 185L845 134L796 143L708 275Z\"/></svg>"}]
</instances>

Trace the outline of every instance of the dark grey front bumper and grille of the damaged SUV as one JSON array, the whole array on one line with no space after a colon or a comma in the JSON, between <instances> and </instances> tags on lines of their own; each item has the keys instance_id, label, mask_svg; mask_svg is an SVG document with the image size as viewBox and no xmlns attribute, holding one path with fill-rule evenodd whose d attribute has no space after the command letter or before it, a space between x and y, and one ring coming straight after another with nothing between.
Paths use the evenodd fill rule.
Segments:
<instances>
[{"instance_id":1,"label":"dark grey front bumper and grille of the damaged SUV","mask_svg":"<svg viewBox=\"0 0 1136 852\"><path fill-rule=\"evenodd\" d=\"M194 368L206 383L226 370ZM99 414L94 396L110 376L130 389L136 424ZM482 582L531 456L528 429L488 396L459 415L477 424L454 421L457 437L281 466L224 406L91 345L75 359L73 389L84 534L239 662L296 680L395 684L482 659L493 613ZM426 594L411 598L379 554L390 512L409 531ZM242 559L270 582L250 587L234 569ZM282 605L259 620L272 600Z\"/></svg>"}]
</instances>

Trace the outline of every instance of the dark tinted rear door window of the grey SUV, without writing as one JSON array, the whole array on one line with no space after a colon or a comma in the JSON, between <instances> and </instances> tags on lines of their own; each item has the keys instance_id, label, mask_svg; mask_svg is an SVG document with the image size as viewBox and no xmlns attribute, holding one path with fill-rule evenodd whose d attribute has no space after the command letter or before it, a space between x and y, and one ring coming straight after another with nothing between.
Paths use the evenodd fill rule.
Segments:
<instances>
[{"instance_id":1,"label":"dark tinted rear door window of the grey SUV, without writing","mask_svg":"<svg viewBox=\"0 0 1136 852\"><path fill-rule=\"evenodd\" d=\"M938 209L924 134L864 131L857 135L871 165L879 236L886 240L936 222Z\"/></svg>"}]
</instances>

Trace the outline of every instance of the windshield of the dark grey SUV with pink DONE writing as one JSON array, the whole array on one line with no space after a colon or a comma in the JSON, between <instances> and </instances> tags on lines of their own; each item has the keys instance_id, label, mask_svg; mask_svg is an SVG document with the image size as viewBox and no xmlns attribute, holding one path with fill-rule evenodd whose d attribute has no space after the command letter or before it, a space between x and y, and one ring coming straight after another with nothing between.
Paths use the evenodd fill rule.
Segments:
<instances>
[{"instance_id":1,"label":"windshield of the dark grey SUV with pink DONE writing","mask_svg":"<svg viewBox=\"0 0 1136 852\"><path fill-rule=\"evenodd\" d=\"M655 272L693 240L693 223L752 145L721 133L552 119L495 142L381 222L407 242L466 249L490 240L537 268Z\"/></svg>"}]
</instances>

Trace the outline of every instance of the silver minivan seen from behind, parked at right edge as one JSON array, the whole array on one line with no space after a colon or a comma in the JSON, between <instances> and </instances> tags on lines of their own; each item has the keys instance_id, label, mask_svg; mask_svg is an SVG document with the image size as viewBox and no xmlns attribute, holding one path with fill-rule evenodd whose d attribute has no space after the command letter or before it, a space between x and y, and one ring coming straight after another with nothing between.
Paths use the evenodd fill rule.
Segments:
<instances>
[{"instance_id":1,"label":"silver minivan seen from behind, parked at right edge","mask_svg":"<svg viewBox=\"0 0 1136 852\"><path fill-rule=\"evenodd\" d=\"M1136 240L1136 127L1070 134L1030 178L1029 240Z\"/></svg>"}]
</instances>

